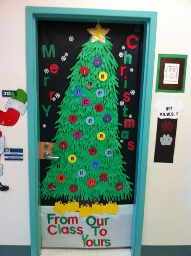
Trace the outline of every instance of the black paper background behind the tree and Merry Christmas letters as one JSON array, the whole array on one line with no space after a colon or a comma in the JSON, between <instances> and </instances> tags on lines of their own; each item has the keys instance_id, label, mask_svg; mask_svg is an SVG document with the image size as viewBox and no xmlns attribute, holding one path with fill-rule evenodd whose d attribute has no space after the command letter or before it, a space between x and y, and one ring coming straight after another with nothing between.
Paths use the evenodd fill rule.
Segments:
<instances>
[{"instance_id":1,"label":"black paper background behind the tree and Merry Christmas letters","mask_svg":"<svg viewBox=\"0 0 191 256\"><path fill-rule=\"evenodd\" d=\"M129 130L129 139L124 139L124 142L121 143L122 149L121 154L123 155L124 161L127 163L124 165L127 170L127 175L129 180L134 183L135 176L135 162L136 162L136 140L137 140L137 125L138 125L138 108L139 108L139 91L140 91L140 80L141 80L141 60L142 60L142 34L143 26L134 25L134 24L112 24L112 23L100 23L102 28L109 28L110 31L107 34L110 37L110 41L113 44L112 54L115 56L115 59L118 63L117 77L119 78L119 95L118 102L123 100L123 93L130 92L135 90L135 94L131 95L131 101L125 103L128 108L128 115L131 114L132 118L135 120L134 128L123 128L119 127L120 133L123 130ZM90 34L86 29L95 28L96 23L78 23L78 22L65 22L65 21L39 21L38 30L39 30L39 103L40 103L40 141L49 141L53 139L57 129L55 127L55 121L58 119L57 111L59 111L58 106L62 101L65 91L69 86L70 80L67 80L66 77L70 75L72 68L76 64L76 57L82 50L82 45L87 42L90 38ZM129 35L136 35L138 41L132 39L132 44L138 44L136 49L129 49L126 45L126 39ZM69 36L73 36L74 41L70 42L68 40ZM42 44L47 46L49 49L50 44L55 45L55 57L43 58L42 56ZM124 64L124 58L118 56L119 52L123 52L121 49L122 46L125 46L125 51L128 54L132 55L132 64ZM61 60L61 56L68 53L66 61ZM51 64L57 64L59 71L57 74L44 73L45 68L49 68ZM127 88L124 88L124 77L120 77L120 67L126 66L127 69L124 71L124 75L127 75ZM130 68L133 68L134 71L130 72ZM47 86L44 86L44 77L50 77L47 80ZM60 98L57 98L56 101L50 101L49 92L55 91L55 93L60 93ZM49 111L49 117L45 116L45 111L42 109L42 105L46 108L51 105ZM124 124L124 119L128 117L123 116L123 106L118 106L119 113L119 122ZM46 128L43 128L42 125L45 124ZM120 137L120 134L119 134ZM128 150L128 142L134 141L135 149ZM46 175L46 167L50 165L49 160L40 160L41 182ZM134 186L132 186L134 190ZM41 205L54 205L55 201L61 199L41 199ZM62 200L62 202L64 202ZM104 201L102 201L105 203ZM133 197L128 201L117 201L118 204L132 204Z\"/></svg>"}]
</instances>

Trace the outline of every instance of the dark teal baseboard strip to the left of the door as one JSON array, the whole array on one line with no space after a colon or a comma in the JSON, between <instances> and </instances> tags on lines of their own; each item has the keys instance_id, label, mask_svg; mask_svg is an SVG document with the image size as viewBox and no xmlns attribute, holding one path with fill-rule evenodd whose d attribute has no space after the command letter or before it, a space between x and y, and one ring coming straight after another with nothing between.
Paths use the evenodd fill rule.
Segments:
<instances>
[{"instance_id":1,"label":"dark teal baseboard strip to the left of the door","mask_svg":"<svg viewBox=\"0 0 191 256\"><path fill-rule=\"evenodd\" d=\"M0 245L0 255L31 256L31 246L30 245Z\"/></svg>"}]
</instances>

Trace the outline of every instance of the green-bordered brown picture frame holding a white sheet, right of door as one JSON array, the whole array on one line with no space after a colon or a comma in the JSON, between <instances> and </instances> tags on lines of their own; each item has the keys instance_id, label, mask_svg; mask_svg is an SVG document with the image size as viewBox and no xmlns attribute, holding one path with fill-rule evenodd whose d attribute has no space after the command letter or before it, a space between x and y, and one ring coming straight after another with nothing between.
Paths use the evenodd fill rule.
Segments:
<instances>
[{"instance_id":1,"label":"green-bordered brown picture frame holding a white sheet, right of door","mask_svg":"<svg viewBox=\"0 0 191 256\"><path fill-rule=\"evenodd\" d=\"M159 54L155 92L184 93L188 55Z\"/></svg>"}]
</instances>

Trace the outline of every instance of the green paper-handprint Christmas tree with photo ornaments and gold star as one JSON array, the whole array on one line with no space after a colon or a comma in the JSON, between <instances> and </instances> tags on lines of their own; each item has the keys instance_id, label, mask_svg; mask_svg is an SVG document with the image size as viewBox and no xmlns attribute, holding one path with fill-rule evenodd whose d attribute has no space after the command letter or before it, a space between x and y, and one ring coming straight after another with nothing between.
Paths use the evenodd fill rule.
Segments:
<instances>
[{"instance_id":1,"label":"green paper-handprint Christmas tree with photo ornaments and gold star","mask_svg":"<svg viewBox=\"0 0 191 256\"><path fill-rule=\"evenodd\" d=\"M71 68L70 85L59 108L51 160L42 197L121 200L132 184L123 167L118 137L117 62L109 29L98 23Z\"/></svg>"}]
</instances>

